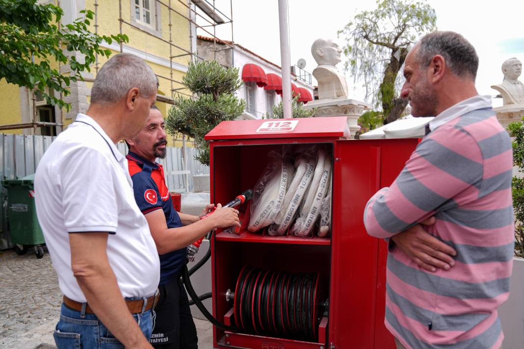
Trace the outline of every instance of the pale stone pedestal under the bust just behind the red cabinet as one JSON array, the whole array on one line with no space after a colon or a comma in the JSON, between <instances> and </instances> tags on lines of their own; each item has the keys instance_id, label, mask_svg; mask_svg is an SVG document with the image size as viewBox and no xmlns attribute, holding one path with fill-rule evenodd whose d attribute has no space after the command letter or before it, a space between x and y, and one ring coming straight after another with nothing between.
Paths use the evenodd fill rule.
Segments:
<instances>
[{"instance_id":1,"label":"pale stone pedestal under the bust just behind the red cabinet","mask_svg":"<svg viewBox=\"0 0 524 349\"><path fill-rule=\"evenodd\" d=\"M365 102L359 102L355 99L339 97L313 100L302 108L318 108L316 109L315 117L346 116L347 127L350 129L351 138L354 138L355 133L360 130L360 126L358 126L358 118L362 115L364 110L371 109L371 105Z\"/></svg>"}]
</instances>

